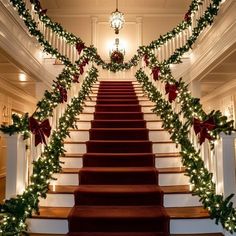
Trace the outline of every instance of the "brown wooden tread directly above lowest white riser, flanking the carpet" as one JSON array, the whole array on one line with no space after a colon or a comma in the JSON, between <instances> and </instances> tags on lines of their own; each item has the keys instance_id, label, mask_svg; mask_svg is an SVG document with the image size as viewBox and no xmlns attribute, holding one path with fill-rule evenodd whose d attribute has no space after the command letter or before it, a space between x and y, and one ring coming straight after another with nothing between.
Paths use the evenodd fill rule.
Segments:
<instances>
[{"instance_id":1,"label":"brown wooden tread directly above lowest white riser, flanking the carpet","mask_svg":"<svg viewBox=\"0 0 236 236\"><path fill-rule=\"evenodd\" d=\"M104 206L103 206L104 207ZM105 206L109 207L109 206ZM153 206L151 206L152 208ZM156 206L155 206L156 207ZM118 207L117 207L118 208ZM137 208L137 206L135 206ZM71 207L40 207L40 215L33 215L33 218L46 219L67 219ZM201 219L209 218L207 210L203 207L165 207L171 219Z\"/></svg>"}]
</instances>

